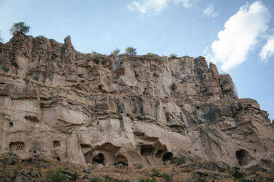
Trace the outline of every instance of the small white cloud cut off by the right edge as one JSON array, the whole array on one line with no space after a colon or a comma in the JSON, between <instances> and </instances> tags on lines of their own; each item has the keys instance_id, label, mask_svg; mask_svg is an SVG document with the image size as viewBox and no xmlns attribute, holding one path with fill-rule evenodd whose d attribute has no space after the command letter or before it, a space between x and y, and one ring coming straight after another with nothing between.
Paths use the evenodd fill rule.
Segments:
<instances>
[{"instance_id":1,"label":"small white cloud cut off by the right edge","mask_svg":"<svg viewBox=\"0 0 274 182\"><path fill-rule=\"evenodd\" d=\"M274 35L269 36L269 39L267 40L264 47L262 47L259 55L262 62L264 63L268 62L269 57L274 55Z\"/></svg>"}]
</instances>

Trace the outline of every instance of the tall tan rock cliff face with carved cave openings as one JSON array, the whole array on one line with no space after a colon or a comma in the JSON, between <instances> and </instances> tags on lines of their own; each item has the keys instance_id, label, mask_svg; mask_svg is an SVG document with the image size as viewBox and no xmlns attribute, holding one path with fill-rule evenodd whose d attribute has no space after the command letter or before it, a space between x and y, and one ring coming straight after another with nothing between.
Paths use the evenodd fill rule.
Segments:
<instances>
[{"instance_id":1,"label":"tall tan rock cliff face with carved cave openings","mask_svg":"<svg viewBox=\"0 0 274 182\"><path fill-rule=\"evenodd\" d=\"M91 55L42 36L0 44L0 153L75 164L171 158L274 166L274 129L204 57Z\"/></svg>"}]
</instances>

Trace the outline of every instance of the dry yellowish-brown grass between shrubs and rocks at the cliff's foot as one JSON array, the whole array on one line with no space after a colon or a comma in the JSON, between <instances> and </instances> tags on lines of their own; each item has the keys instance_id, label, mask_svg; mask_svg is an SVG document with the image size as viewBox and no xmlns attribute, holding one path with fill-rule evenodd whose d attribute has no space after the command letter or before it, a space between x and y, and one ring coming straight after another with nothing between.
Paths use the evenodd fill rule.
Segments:
<instances>
[{"instance_id":1,"label":"dry yellowish-brown grass between shrubs and rocks at the cliff's foot","mask_svg":"<svg viewBox=\"0 0 274 182\"><path fill-rule=\"evenodd\" d=\"M171 164L169 166L145 166L143 168L138 168L137 166L125 166L122 168L117 168L116 166L88 166L90 173L84 173L84 166L77 166L69 164L67 162L60 162L42 158L39 158L39 161L40 164L36 165L31 165L27 161L21 160L18 160L13 165L3 166L3 164L1 164L0 171L2 171L3 169L5 171L8 171L10 173L10 179L14 179L16 175L14 175L13 170L18 169L18 166L21 166L22 168L20 170L17 170L17 174L27 173L29 171L34 173L36 172L38 174L37 177L30 177L32 180L36 181L41 181L41 179L45 179L49 171L55 171L57 168L60 168L61 170L67 172L77 173L77 181L84 181L84 179L79 179L82 174L86 174L88 181L94 178L101 179L101 181L106 181L106 179L112 179L112 181L136 181L141 178L151 179L152 177L155 177L156 181L165 181L163 174L171 175L172 181L186 181L186 179L190 178L192 178L191 181L197 181L197 179L199 179L199 175L197 174L198 168L195 169L190 167L199 164L199 162L187 166L176 166L175 164ZM158 174L155 174L153 172L153 169L158 170ZM274 178L273 174L268 174L266 172L254 172L253 175L247 174L245 177L256 178L256 175L260 175L260 177L269 176ZM212 170L206 170L206 175L203 177L203 179L206 179L207 181L212 181L212 179L214 179L214 181L234 181L234 177L232 177L232 173L229 172L229 170L225 172L219 172L218 177L221 177L221 179L216 179L215 177L216 176L214 176Z\"/></svg>"}]
</instances>

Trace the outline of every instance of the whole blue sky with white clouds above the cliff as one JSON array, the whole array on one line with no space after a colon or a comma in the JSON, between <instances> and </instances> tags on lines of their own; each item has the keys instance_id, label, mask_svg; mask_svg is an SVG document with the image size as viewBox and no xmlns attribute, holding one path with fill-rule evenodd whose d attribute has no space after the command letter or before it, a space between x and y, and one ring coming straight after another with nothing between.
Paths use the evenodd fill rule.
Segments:
<instances>
[{"instance_id":1,"label":"whole blue sky with white clouds above the cliff","mask_svg":"<svg viewBox=\"0 0 274 182\"><path fill-rule=\"evenodd\" d=\"M0 0L4 42L21 21L34 37L70 35L83 53L205 56L274 119L273 0Z\"/></svg>"}]
</instances>

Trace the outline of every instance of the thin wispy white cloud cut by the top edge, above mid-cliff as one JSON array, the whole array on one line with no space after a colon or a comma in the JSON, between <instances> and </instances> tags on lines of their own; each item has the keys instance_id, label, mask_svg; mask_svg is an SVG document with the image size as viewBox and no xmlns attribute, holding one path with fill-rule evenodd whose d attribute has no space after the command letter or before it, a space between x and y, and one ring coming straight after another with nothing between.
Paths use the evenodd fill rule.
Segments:
<instances>
[{"instance_id":1,"label":"thin wispy white cloud cut by the top edge, above mid-cliff","mask_svg":"<svg viewBox=\"0 0 274 182\"><path fill-rule=\"evenodd\" d=\"M190 0L136 0L127 5L133 12L140 12L142 15L159 14L170 3L182 3L184 8L190 7Z\"/></svg>"}]
</instances>

